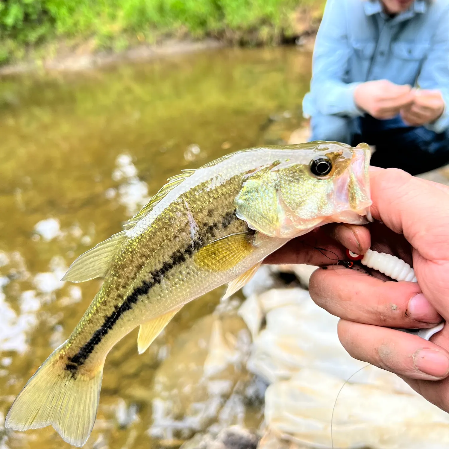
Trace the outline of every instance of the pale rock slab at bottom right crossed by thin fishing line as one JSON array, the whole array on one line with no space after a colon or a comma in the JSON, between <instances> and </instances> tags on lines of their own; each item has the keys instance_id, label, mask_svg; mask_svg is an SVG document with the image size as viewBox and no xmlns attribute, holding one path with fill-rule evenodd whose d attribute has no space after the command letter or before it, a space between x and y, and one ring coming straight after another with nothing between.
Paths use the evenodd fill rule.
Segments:
<instances>
[{"instance_id":1,"label":"pale rock slab at bottom right crossed by thin fishing line","mask_svg":"<svg viewBox=\"0 0 449 449\"><path fill-rule=\"evenodd\" d=\"M281 439L332 448L332 409L343 382L304 369L265 393L265 421ZM333 398L330 400L330 398ZM447 449L449 415L421 396L346 384L332 420L335 449Z\"/></svg>"}]
</instances>

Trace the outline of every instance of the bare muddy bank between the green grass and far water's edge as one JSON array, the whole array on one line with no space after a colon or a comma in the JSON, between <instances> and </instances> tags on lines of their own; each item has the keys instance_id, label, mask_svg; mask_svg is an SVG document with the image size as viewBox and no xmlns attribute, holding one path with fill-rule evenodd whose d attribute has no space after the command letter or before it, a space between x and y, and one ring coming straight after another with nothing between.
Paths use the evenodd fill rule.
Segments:
<instances>
[{"instance_id":1,"label":"bare muddy bank between the green grass and far water's edge","mask_svg":"<svg viewBox=\"0 0 449 449\"><path fill-rule=\"evenodd\" d=\"M252 30L223 30L211 33L209 37L202 39L193 39L188 33L180 33L177 37L163 37L151 44L145 42L143 33L137 33L135 36L123 35L127 48L121 51L112 48L99 50L95 38L82 40L78 44L70 44L65 40L49 41L46 44L28 48L25 55L18 61L0 64L0 76L32 71L92 70L120 62L150 61L159 57L223 47L295 45L304 51L311 52L321 22L321 14L321 3L312 7L295 9L290 15L287 28L279 31L271 40L264 36L264 32L266 34L268 31L254 28Z\"/></svg>"}]
</instances>

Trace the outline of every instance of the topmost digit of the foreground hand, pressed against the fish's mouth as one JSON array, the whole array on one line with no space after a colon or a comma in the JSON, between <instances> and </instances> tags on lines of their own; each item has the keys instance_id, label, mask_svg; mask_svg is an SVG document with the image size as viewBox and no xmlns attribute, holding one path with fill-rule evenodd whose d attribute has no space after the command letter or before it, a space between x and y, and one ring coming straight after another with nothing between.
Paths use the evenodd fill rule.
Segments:
<instances>
[{"instance_id":1,"label":"topmost digit of the foreground hand, pressed against the fish's mouth","mask_svg":"<svg viewBox=\"0 0 449 449\"><path fill-rule=\"evenodd\" d=\"M370 182L374 219L404 234L421 291L449 320L448 188L394 168L371 172Z\"/></svg>"}]
</instances>

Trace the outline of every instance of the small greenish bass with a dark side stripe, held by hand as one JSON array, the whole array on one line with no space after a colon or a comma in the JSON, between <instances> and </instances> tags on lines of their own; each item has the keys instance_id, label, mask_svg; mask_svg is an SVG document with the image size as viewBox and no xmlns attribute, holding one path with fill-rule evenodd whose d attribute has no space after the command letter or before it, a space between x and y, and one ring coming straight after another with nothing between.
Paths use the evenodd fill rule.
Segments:
<instances>
[{"instance_id":1,"label":"small greenish bass with a dark side stripe, held by hand","mask_svg":"<svg viewBox=\"0 0 449 449\"><path fill-rule=\"evenodd\" d=\"M47 427L81 447L111 348L140 326L139 353L189 301L229 297L266 256L326 223L370 218L370 148L315 141L250 148L183 170L124 229L80 255L64 281L104 278L69 338L18 394L5 426Z\"/></svg>"}]
</instances>

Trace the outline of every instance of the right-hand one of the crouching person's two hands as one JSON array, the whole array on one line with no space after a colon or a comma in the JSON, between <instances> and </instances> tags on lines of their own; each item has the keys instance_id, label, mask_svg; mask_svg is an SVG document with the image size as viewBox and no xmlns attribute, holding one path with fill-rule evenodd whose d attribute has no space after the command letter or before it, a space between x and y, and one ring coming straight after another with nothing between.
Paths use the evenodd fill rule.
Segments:
<instances>
[{"instance_id":1,"label":"right-hand one of the crouching person's two hands","mask_svg":"<svg viewBox=\"0 0 449 449\"><path fill-rule=\"evenodd\" d=\"M415 91L413 103L401 109L401 117L410 126L422 126L439 119L445 110L445 101L439 90Z\"/></svg>"}]
</instances>

